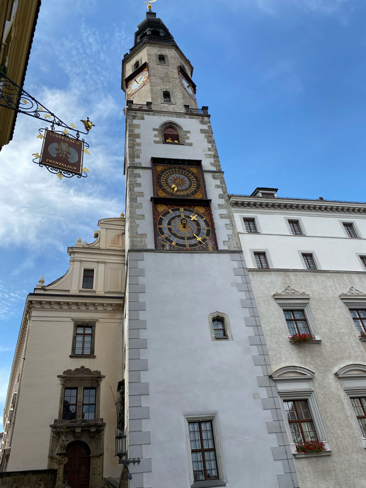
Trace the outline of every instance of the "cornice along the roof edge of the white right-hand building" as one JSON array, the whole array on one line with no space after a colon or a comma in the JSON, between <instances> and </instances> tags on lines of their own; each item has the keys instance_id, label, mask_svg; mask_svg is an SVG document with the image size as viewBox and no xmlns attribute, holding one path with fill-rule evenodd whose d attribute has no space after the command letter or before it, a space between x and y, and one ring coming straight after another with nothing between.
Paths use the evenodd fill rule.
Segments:
<instances>
[{"instance_id":1,"label":"cornice along the roof edge of the white right-hand building","mask_svg":"<svg viewBox=\"0 0 366 488\"><path fill-rule=\"evenodd\" d=\"M306 203L306 202L276 202L277 199L264 200L261 198L252 199L250 197L239 199L238 197L230 197L230 205L232 207L238 208L267 208L271 210L306 210L315 212L338 212L338 213L355 213L366 215L366 205L362 203L348 204L348 203L329 203L317 201L317 203ZM279 199L280 200L280 199Z\"/></svg>"}]
</instances>

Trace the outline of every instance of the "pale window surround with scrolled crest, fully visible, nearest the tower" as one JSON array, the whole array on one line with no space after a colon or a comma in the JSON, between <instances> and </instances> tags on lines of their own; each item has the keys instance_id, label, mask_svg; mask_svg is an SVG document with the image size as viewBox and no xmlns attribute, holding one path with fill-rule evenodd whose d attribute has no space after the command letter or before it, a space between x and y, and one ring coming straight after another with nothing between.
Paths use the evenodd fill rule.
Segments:
<instances>
[{"instance_id":1,"label":"pale window surround with scrolled crest, fully visible, nearest the tower","mask_svg":"<svg viewBox=\"0 0 366 488\"><path fill-rule=\"evenodd\" d=\"M296 291L296 290L293 290ZM320 344L322 341L322 338L320 337L318 328L316 326L313 314L311 312L310 308L310 295L306 295L305 293L299 293L296 291L296 293L285 295L283 293L275 293L273 295L273 298L279 305L281 309L281 318L282 318L282 323L285 328L285 332L287 334L287 337L290 338L291 334L288 330L286 319L285 319L285 314L284 310L303 310L307 326L309 327L310 334L315 337L311 341L312 344Z\"/></svg>"}]
</instances>

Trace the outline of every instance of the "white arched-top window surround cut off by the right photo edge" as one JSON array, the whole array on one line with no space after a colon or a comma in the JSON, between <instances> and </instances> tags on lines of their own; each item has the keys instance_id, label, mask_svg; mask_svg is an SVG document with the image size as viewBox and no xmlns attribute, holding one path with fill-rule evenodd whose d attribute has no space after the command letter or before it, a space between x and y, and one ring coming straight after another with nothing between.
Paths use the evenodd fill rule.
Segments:
<instances>
[{"instance_id":1,"label":"white arched-top window surround cut off by the right photo edge","mask_svg":"<svg viewBox=\"0 0 366 488\"><path fill-rule=\"evenodd\" d=\"M346 393L348 406L351 409L352 417L361 438L362 447L366 449L366 437L362 433L357 415L351 403L351 398L366 397L366 365L351 364L343 366L335 372L335 375L341 380L341 384Z\"/></svg>"}]
</instances>

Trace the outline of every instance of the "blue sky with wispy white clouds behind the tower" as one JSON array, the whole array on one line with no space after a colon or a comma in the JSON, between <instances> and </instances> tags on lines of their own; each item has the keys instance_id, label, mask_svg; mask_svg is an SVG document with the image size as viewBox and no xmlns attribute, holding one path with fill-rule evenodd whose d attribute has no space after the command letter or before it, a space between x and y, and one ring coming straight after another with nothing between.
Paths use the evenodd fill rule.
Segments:
<instances>
[{"instance_id":1,"label":"blue sky with wispy white clouds behind the tower","mask_svg":"<svg viewBox=\"0 0 366 488\"><path fill-rule=\"evenodd\" d=\"M229 193L365 201L364 0L158 0L194 66ZM124 211L121 61L142 1L42 0L24 88L67 123L89 116L88 178L32 163L40 122L18 116L0 153L0 409L21 315L41 274L68 268L67 246L93 241ZM79 122L80 123L80 122Z\"/></svg>"}]
</instances>

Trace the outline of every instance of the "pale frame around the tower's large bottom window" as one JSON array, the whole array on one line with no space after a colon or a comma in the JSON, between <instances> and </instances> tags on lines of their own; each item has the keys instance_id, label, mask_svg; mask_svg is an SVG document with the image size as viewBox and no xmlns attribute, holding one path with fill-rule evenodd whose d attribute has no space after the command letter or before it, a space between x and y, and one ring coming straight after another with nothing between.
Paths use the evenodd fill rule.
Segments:
<instances>
[{"instance_id":1,"label":"pale frame around the tower's large bottom window","mask_svg":"<svg viewBox=\"0 0 366 488\"><path fill-rule=\"evenodd\" d=\"M192 485L194 483L197 483L197 486L200 486L202 488L203 487L208 488L208 487L215 487L215 486L225 486L226 485L226 476L225 476L225 470L224 470L224 460L223 460L223 454L222 454L222 450L221 450L219 427L218 427L216 415L215 414L212 414L212 415L186 415L186 416L184 416L184 420L185 420L185 435L186 435L186 440L187 440L187 456L188 456L188 465L189 465L190 486L192 487ZM189 437L189 425L188 424L190 422L207 422L207 421L212 422L212 429L213 429L213 435L214 435L214 440L215 440L216 461L217 461L217 467L218 467L220 478L217 480L204 480L204 481L199 482L199 481L195 481L194 476L193 476L192 450L191 450L191 442L190 442L190 437ZM200 485L198 485L198 483Z\"/></svg>"}]
</instances>

